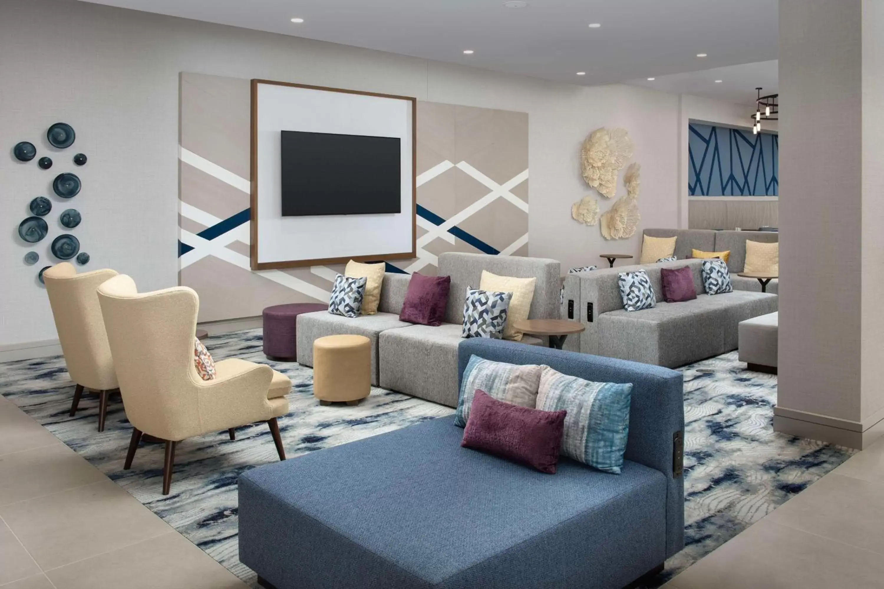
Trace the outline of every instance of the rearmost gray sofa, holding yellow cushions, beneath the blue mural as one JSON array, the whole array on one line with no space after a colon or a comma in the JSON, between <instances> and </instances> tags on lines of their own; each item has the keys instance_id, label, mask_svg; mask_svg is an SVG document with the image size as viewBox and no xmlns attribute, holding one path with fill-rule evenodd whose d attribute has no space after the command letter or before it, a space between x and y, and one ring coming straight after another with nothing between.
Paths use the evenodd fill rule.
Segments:
<instances>
[{"instance_id":1,"label":"rearmost gray sofa, holding yellow cushions, beneath the blue mural","mask_svg":"<svg viewBox=\"0 0 884 589\"><path fill-rule=\"evenodd\" d=\"M652 238L675 239L675 256L679 260L687 260L691 249L703 252L730 252L728 270L730 280L736 291L761 291L761 284L755 278L736 276L743 272L746 264L746 240L760 241L769 244L780 240L776 231L730 231L708 229L646 229L644 235ZM776 294L779 281L774 278L767 284L767 292Z\"/></svg>"}]
</instances>

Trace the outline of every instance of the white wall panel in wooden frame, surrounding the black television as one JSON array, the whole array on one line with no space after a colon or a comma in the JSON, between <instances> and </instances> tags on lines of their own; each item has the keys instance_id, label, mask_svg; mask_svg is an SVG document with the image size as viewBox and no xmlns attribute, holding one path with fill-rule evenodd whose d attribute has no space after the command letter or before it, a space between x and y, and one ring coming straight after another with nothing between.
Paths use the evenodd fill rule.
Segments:
<instances>
[{"instance_id":1,"label":"white wall panel in wooden frame, surrounding the black television","mask_svg":"<svg viewBox=\"0 0 884 589\"><path fill-rule=\"evenodd\" d=\"M283 216L282 131L399 138L400 213ZM254 269L414 257L415 99L252 80L252 219Z\"/></svg>"}]
</instances>

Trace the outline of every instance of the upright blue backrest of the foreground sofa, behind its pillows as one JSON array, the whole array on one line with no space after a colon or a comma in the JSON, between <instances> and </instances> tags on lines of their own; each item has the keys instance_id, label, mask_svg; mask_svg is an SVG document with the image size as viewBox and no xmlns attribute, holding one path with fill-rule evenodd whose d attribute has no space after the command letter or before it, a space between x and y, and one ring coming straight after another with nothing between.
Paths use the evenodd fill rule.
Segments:
<instances>
[{"instance_id":1,"label":"upright blue backrest of the foreground sofa, behind its pillows","mask_svg":"<svg viewBox=\"0 0 884 589\"><path fill-rule=\"evenodd\" d=\"M487 338L458 346L458 382L472 355L510 364L545 364L596 382L631 382L626 459L662 472L667 478L667 557L684 547L684 480L681 472L684 431L684 381L668 368L602 358Z\"/></svg>"}]
</instances>

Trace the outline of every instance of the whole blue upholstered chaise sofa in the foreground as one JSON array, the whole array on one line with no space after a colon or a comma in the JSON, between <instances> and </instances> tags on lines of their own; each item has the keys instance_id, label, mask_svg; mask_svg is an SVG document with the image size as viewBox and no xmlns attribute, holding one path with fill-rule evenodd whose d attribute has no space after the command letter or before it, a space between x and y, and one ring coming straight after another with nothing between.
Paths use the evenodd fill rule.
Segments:
<instances>
[{"instance_id":1,"label":"whole blue upholstered chaise sofa in the foreground","mask_svg":"<svg viewBox=\"0 0 884 589\"><path fill-rule=\"evenodd\" d=\"M453 418L322 449L240 477L240 560L264 586L620 589L684 544L682 375L471 339L472 354L632 382L620 475L556 474L461 448Z\"/></svg>"}]
</instances>

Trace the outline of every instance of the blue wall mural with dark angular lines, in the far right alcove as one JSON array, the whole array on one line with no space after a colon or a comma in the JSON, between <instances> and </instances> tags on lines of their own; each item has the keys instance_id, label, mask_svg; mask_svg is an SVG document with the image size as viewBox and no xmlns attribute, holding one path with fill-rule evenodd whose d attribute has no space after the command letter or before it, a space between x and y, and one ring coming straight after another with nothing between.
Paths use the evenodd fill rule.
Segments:
<instances>
[{"instance_id":1,"label":"blue wall mural with dark angular lines, in the far right alcove","mask_svg":"<svg viewBox=\"0 0 884 589\"><path fill-rule=\"evenodd\" d=\"M691 196L777 196L780 142L776 133L688 125Z\"/></svg>"}]
</instances>

